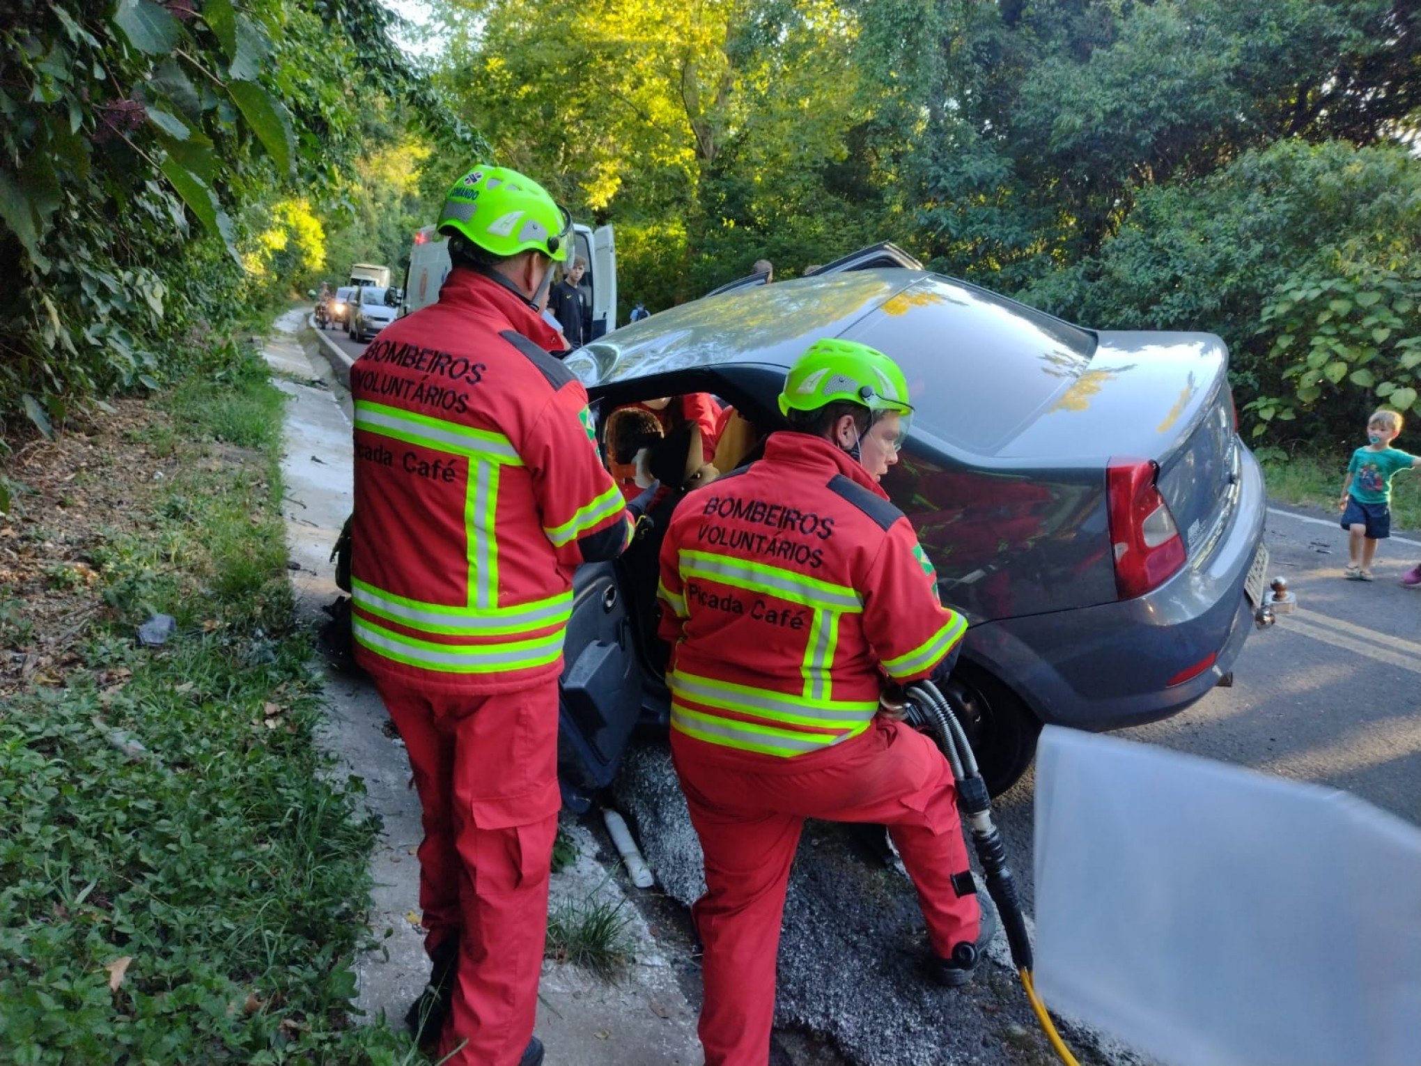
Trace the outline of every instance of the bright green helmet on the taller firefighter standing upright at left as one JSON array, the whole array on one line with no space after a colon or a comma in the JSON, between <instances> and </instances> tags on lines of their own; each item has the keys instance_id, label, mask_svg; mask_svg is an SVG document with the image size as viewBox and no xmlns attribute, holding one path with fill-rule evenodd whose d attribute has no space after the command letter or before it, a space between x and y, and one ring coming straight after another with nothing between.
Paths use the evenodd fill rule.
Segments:
<instances>
[{"instance_id":1,"label":"bright green helmet on the taller firefighter standing upright at left","mask_svg":"<svg viewBox=\"0 0 1421 1066\"><path fill-rule=\"evenodd\" d=\"M506 166L475 166L456 181L436 229L495 256L534 249L563 263L573 247L573 217L547 189Z\"/></svg>"}]
</instances>

